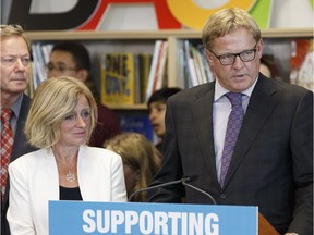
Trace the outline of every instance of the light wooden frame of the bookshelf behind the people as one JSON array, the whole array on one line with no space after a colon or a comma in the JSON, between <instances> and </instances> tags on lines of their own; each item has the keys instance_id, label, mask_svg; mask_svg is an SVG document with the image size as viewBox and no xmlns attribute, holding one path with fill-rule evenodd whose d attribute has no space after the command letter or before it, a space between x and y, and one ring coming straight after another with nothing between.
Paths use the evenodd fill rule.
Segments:
<instances>
[{"instance_id":1,"label":"light wooden frame of the bookshelf behind the people","mask_svg":"<svg viewBox=\"0 0 314 235\"><path fill-rule=\"evenodd\" d=\"M149 52L156 40L168 41L167 77L168 86L182 86L180 79L180 48L184 40L200 41L198 30L145 30L145 32L27 32L31 44L36 41L80 40L87 46L92 55L98 52ZM313 38L312 28L270 28L262 30L266 44L289 44L291 39ZM98 72L99 73L99 72ZM97 72L95 73L97 75ZM94 74L94 75L95 75ZM98 76L99 77L99 76ZM98 82L98 81L97 81ZM146 110L146 104L109 106L114 110Z\"/></svg>"}]
</instances>

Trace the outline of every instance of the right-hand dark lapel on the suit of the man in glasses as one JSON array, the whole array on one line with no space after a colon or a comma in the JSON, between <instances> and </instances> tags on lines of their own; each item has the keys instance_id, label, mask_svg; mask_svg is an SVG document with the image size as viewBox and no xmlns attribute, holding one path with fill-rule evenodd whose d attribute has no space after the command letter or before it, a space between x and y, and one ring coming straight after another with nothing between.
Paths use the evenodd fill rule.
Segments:
<instances>
[{"instance_id":1,"label":"right-hand dark lapel on the suit of the man in glasses","mask_svg":"<svg viewBox=\"0 0 314 235\"><path fill-rule=\"evenodd\" d=\"M273 83L269 83L270 81L267 79L269 78L259 76L252 92L225 185L228 185L228 182L232 178L232 175L241 164L241 161L245 157L253 140L263 127L264 122L277 104L276 96L274 96L274 94L276 94L276 88L271 85Z\"/></svg>"}]
</instances>

